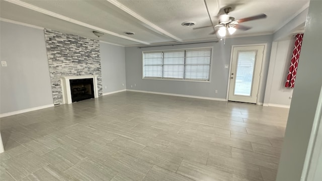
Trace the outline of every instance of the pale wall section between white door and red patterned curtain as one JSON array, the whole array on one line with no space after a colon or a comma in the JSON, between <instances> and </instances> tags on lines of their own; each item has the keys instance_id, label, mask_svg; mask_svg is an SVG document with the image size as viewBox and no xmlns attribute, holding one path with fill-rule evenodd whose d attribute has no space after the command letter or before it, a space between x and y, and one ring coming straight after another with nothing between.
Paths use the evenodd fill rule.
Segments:
<instances>
[{"instance_id":1,"label":"pale wall section between white door and red patterned curtain","mask_svg":"<svg viewBox=\"0 0 322 181\"><path fill-rule=\"evenodd\" d=\"M305 7L308 7L308 5L305 5ZM308 8L305 8L273 35L265 104L286 106L291 104L290 97L293 94L293 88L286 88L285 81L294 49L295 37L292 37L292 35L294 32L301 31L302 27L304 27L307 12Z\"/></svg>"}]
</instances>

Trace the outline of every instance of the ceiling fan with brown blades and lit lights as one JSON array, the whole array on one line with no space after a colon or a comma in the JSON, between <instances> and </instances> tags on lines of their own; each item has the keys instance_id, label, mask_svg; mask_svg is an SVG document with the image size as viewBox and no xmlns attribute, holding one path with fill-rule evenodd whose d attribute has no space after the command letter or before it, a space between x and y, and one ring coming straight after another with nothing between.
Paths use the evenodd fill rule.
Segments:
<instances>
[{"instance_id":1,"label":"ceiling fan with brown blades and lit lights","mask_svg":"<svg viewBox=\"0 0 322 181\"><path fill-rule=\"evenodd\" d=\"M236 29L246 31L246 30L249 30L252 28L249 26L240 25L239 23L252 21L252 20L264 19L267 17L265 14L259 14L256 16L235 20L234 17L230 17L228 15L230 13L230 11L231 11L230 7L224 9L225 14L219 15L218 25L197 27L197 28L194 28L194 30L201 29L201 28L207 28L207 27L218 27L217 29L215 29L214 32L212 32L210 34L216 34L218 32L219 36L224 37L224 36L226 36L226 30L228 30L230 35L232 35L236 31Z\"/></svg>"}]
</instances>

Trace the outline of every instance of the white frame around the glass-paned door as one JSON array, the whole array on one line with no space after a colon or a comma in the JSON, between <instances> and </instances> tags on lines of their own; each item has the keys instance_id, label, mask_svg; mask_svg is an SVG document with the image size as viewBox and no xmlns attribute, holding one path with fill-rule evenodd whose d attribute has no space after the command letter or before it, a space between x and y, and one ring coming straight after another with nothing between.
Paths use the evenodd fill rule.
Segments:
<instances>
[{"instance_id":1,"label":"white frame around the glass-paned door","mask_svg":"<svg viewBox=\"0 0 322 181\"><path fill-rule=\"evenodd\" d=\"M256 100L257 105L263 105L263 103L259 102L259 98L261 96L261 87L262 87L262 81L263 81L263 69L264 64L266 60L266 49L267 49L267 43L258 43L258 44L246 44L246 45L231 45L231 51L230 51L230 62L229 62L229 72L228 72L228 84L227 84L227 93L226 93L226 101L228 102L228 95L229 95L229 84L230 84L230 73L231 73L231 65L232 65L232 53L234 47L245 47L245 46L261 46L264 45L264 51L263 51L263 61L261 65L261 73L260 73L260 83L258 85L258 97Z\"/></svg>"}]
</instances>

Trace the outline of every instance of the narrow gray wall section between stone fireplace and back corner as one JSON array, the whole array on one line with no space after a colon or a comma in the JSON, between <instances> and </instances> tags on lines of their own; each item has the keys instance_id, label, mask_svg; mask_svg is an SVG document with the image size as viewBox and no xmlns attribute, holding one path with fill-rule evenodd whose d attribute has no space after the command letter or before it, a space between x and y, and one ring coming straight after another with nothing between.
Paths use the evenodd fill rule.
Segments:
<instances>
[{"instance_id":1,"label":"narrow gray wall section between stone fireplace and back corner","mask_svg":"<svg viewBox=\"0 0 322 181\"><path fill-rule=\"evenodd\" d=\"M103 94L125 89L125 48L101 42L100 51Z\"/></svg>"}]
</instances>

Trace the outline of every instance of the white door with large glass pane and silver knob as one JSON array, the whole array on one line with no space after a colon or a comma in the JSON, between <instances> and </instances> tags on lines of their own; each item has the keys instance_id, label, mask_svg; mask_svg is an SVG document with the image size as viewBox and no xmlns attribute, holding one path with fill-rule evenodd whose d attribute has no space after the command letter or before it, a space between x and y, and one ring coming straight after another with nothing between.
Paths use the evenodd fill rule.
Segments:
<instances>
[{"instance_id":1,"label":"white door with large glass pane and silver knob","mask_svg":"<svg viewBox=\"0 0 322 181\"><path fill-rule=\"evenodd\" d=\"M228 101L257 102L264 47L233 47Z\"/></svg>"}]
</instances>

